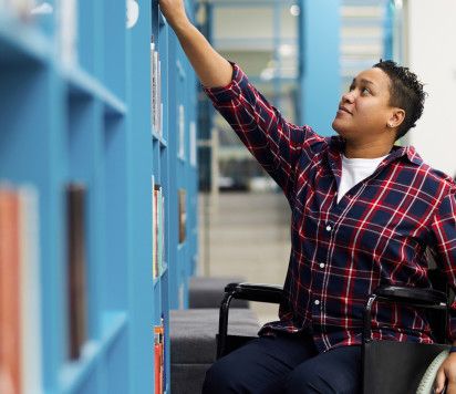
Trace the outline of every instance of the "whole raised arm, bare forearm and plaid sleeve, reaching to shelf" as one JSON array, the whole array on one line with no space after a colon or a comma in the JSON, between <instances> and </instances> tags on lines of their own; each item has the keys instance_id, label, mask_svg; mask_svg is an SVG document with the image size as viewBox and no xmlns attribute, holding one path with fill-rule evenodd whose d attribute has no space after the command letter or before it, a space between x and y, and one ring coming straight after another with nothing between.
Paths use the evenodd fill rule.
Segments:
<instances>
[{"instance_id":1,"label":"whole raised arm, bare forearm and plaid sleeve, reaching to shelf","mask_svg":"<svg viewBox=\"0 0 456 394\"><path fill-rule=\"evenodd\" d=\"M236 63L218 54L188 20L183 0L159 4L215 108L290 200L298 159L310 164L323 138L284 120Z\"/></svg>"}]
</instances>

